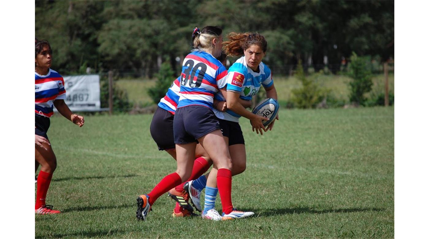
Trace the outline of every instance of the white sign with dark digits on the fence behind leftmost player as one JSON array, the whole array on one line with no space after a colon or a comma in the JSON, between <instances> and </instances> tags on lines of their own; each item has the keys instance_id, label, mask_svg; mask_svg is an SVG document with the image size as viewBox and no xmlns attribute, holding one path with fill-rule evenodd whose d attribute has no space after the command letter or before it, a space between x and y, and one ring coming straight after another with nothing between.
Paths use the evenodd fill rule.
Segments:
<instances>
[{"instance_id":1,"label":"white sign with dark digits on the fence behind leftmost player","mask_svg":"<svg viewBox=\"0 0 429 239\"><path fill-rule=\"evenodd\" d=\"M64 76L66 99L71 111L100 111L100 76Z\"/></svg>"}]
</instances>

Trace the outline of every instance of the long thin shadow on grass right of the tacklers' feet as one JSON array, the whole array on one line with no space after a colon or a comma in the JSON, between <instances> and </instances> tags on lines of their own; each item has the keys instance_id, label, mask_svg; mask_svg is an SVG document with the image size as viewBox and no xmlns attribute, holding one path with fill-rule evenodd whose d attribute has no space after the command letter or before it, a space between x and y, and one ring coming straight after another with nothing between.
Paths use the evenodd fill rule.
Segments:
<instances>
[{"instance_id":1,"label":"long thin shadow on grass right of the tacklers' feet","mask_svg":"<svg viewBox=\"0 0 429 239\"><path fill-rule=\"evenodd\" d=\"M240 209L240 210L243 210L243 209ZM244 211L246 211L246 210L244 210ZM322 213L346 213L346 212L367 212L367 211L380 212L380 211L384 211L384 209L380 209L380 208L347 208L347 209L317 210L317 209L299 207L299 208L265 210L265 211L257 213L257 216L270 217L270 216L282 215L282 214L301 214L301 213L322 214Z\"/></svg>"}]
</instances>

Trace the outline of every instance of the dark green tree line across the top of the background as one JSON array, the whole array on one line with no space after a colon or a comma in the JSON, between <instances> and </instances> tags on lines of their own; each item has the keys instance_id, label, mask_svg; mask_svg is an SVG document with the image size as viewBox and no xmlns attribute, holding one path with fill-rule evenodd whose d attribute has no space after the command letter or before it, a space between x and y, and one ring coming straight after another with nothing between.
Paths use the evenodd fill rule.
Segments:
<instances>
[{"instance_id":1,"label":"dark green tree line across the top of the background","mask_svg":"<svg viewBox=\"0 0 429 239\"><path fill-rule=\"evenodd\" d=\"M53 48L62 74L117 70L153 76L167 62L175 72L191 50L193 27L217 25L266 37L264 62L284 74L333 73L356 52L394 57L393 1L36 1L35 33Z\"/></svg>"}]
</instances>

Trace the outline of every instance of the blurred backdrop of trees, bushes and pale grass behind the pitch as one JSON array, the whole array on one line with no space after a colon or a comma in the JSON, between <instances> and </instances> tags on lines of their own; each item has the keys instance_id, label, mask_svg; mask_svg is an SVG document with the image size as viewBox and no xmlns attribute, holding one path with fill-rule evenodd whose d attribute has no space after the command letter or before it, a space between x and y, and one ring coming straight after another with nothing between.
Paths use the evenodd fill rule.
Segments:
<instances>
[{"instance_id":1,"label":"blurred backdrop of trees, bushes and pale grass behind the pitch","mask_svg":"<svg viewBox=\"0 0 429 239\"><path fill-rule=\"evenodd\" d=\"M50 0L35 6L35 36L50 42L52 69L99 75L103 109L110 71L114 112L151 112L179 75L193 28L206 25L222 27L224 39L230 32L266 37L263 62L283 107L394 103L393 1Z\"/></svg>"}]
</instances>

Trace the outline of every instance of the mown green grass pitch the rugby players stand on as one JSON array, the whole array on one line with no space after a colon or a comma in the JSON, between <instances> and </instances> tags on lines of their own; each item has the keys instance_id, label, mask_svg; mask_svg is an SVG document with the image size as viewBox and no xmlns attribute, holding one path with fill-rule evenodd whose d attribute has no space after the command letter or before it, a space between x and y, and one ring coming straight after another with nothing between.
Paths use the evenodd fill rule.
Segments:
<instances>
[{"instance_id":1,"label":"mown green grass pitch the rugby players stand on","mask_svg":"<svg viewBox=\"0 0 429 239\"><path fill-rule=\"evenodd\" d=\"M152 115L87 116L78 128L53 117L58 166L36 238L393 238L394 108L281 110L263 136L240 124L247 169L233 177L236 221L172 218L166 195L147 221L136 197L175 170L151 139ZM221 210L218 196L216 209Z\"/></svg>"}]
</instances>

